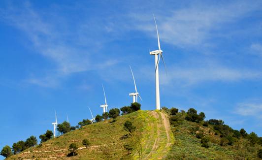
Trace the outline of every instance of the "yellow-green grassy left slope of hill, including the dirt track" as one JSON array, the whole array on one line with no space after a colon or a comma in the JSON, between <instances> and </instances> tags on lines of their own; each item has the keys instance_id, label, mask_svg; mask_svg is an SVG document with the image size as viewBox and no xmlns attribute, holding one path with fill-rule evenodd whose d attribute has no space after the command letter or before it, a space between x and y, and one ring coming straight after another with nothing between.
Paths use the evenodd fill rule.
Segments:
<instances>
[{"instance_id":1,"label":"yellow-green grassy left slope of hill, including the dirt track","mask_svg":"<svg viewBox=\"0 0 262 160\"><path fill-rule=\"evenodd\" d=\"M70 131L62 136L48 140L42 145L29 148L7 160L119 160L124 158L127 151L124 148L125 134L123 124L133 122L141 133L142 159L162 159L173 144L173 134L169 121L161 111L137 111L118 117L116 122L106 120L83 128ZM87 138L91 146L86 148L82 140ZM77 156L66 157L70 143L78 145ZM139 159L134 152L134 159Z\"/></svg>"}]
</instances>

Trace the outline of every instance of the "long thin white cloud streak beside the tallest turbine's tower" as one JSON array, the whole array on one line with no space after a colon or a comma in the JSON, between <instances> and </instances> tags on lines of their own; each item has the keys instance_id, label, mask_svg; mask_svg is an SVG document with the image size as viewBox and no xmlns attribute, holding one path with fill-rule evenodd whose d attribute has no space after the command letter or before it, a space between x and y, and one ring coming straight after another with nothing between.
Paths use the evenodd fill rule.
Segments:
<instances>
[{"instance_id":1,"label":"long thin white cloud streak beside the tallest turbine's tower","mask_svg":"<svg viewBox=\"0 0 262 160\"><path fill-rule=\"evenodd\" d=\"M241 80L260 79L262 72L250 69L234 69L226 66L173 66L168 68L168 75L162 71L162 84L179 83L181 85L194 85L202 82L221 81L235 82Z\"/></svg>"}]
</instances>

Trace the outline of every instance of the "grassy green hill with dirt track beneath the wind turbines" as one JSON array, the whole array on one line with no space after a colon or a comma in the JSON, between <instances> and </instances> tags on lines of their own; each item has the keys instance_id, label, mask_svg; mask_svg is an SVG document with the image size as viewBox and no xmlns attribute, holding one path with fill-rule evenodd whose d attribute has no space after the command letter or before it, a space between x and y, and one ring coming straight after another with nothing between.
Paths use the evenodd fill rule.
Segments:
<instances>
[{"instance_id":1,"label":"grassy green hill with dirt track beneath the wind turbines","mask_svg":"<svg viewBox=\"0 0 262 160\"><path fill-rule=\"evenodd\" d=\"M261 137L252 140L252 134L241 135L222 121L194 122L188 115L167 108L139 110L118 117L116 122L110 119L70 131L7 160L139 160L140 151L142 160L260 160ZM126 146L126 121L135 126L139 141L138 149L132 151ZM83 139L91 145L86 148ZM67 157L71 143L77 144L77 155Z\"/></svg>"}]
</instances>

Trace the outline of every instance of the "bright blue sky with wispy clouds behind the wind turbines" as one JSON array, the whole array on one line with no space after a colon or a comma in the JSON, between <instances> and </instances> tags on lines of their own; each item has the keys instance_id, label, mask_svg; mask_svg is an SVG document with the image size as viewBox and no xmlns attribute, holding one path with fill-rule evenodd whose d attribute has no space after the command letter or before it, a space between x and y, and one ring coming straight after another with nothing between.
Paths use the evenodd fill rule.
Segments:
<instances>
[{"instance_id":1,"label":"bright blue sky with wispy clouds behind the wind turbines","mask_svg":"<svg viewBox=\"0 0 262 160\"><path fill-rule=\"evenodd\" d=\"M0 2L0 148L129 105L134 91L155 109L157 19L167 66L161 106L194 107L206 119L262 136L261 1ZM4 138L3 138L4 137Z\"/></svg>"}]
</instances>

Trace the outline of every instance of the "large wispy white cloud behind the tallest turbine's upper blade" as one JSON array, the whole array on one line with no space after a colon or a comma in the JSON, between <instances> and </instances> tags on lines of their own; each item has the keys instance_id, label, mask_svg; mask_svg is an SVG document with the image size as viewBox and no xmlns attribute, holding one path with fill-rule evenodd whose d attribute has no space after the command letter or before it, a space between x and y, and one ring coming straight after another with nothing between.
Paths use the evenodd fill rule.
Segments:
<instances>
[{"instance_id":1,"label":"large wispy white cloud behind the tallest turbine's upper blade","mask_svg":"<svg viewBox=\"0 0 262 160\"><path fill-rule=\"evenodd\" d=\"M210 46L210 38L228 36L229 32L216 32L227 29L228 25L248 16L249 12L259 8L259 1L252 3L237 1L225 4L196 4L189 7L173 9L170 14L156 15L160 38L166 43L179 47L201 48ZM131 14L140 23L134 27L138 30L150 32L156 36L153 17L138 16L141 13ZM215 31L215 32L214 32Z\"/></svg>"}]
</instances>

